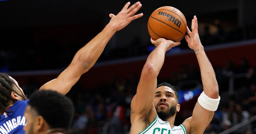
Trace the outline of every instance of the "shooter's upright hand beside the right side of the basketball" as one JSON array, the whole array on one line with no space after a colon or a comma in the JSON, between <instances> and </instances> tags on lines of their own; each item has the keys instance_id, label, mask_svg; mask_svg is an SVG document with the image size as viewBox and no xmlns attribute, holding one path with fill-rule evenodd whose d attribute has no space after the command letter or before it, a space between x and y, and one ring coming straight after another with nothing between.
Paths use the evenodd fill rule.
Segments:
<instances>
[{"instance_id":1,"label":"shooter's upright hand beside the right side of the basketball","mask_svg":"<svg viewBox=\"0 0 256 134\"><path fill-rule=\"evenodd\" d=\"M191 30L192 30L192 32L187 27L188 35L185 35L185 39L188 43L189 48L196 50L196 49L198 49L198 47L202 46L200 38L199 38L199 34L198 34L198 24L197 24L196 15L192 19Z\"/></svg>"}]
</instances>

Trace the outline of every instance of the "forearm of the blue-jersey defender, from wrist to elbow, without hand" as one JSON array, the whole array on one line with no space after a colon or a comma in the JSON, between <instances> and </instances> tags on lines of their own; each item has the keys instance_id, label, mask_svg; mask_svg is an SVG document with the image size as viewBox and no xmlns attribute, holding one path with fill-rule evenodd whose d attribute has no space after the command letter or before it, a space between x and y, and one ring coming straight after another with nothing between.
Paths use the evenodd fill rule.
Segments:
<instances>
[{"instance_id":1,"label":"forearm of the blue-jersey defender, from wrist to elbow, without hand","mask_svg":"<svg viewBox=\"0 0 256 134\"><path fill-rule=\"evenodd\" d=\"M100 57L106 44L109 42L115 32L116 31L111 24L106 25L106 27L95 36L95 38L77 51L72 62L82 63L84 72L87 72Z\"/></svg>"}]
</instances>

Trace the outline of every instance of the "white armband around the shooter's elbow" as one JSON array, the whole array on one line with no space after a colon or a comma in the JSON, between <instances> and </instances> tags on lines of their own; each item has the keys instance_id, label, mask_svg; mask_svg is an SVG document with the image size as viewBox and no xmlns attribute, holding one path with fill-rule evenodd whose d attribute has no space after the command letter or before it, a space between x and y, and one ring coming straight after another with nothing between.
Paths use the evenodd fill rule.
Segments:
<instances>
[{"instance_id":1,"label":"white armband around the shooter's elbow","mask_svg":"<svg viewBox=\"0 0 256 134\"><path fill-rule=\"evenodd\" d=\"M219 100L221 100L220 96L218 99L212 99L208 97L203 91L198 97L197 101L204 109L216 111L219 105Z\"/></svg>"}]
</instances>

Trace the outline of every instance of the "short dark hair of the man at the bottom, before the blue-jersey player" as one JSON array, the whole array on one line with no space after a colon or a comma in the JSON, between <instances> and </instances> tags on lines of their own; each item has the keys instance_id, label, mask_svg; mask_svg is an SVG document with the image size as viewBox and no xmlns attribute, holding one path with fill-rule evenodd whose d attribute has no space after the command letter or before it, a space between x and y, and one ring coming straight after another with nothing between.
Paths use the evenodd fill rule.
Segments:
<instances>
[{"instance_id":1,"label":"short dark hair of the man at the bottom, before the blue-jersey player","mask_svg":"<svg viewBox=\"0 0 256 134\"><path fill-rule=\"evenodd\" d=\"M31 94L28 105L42 116L51 129L68 130L74 115L74 105L65 95L52 90L39 90Z\"/></svg>"}]
</instances>

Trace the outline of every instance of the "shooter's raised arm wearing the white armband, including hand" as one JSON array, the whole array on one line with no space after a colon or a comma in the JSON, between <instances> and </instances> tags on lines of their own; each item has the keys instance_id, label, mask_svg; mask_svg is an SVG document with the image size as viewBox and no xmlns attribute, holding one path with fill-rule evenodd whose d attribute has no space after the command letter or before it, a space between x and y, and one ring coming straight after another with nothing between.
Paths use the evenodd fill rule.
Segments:
<instances>
[{"instance_id":1,"label":"shooter's raised arm wearing the white armband, including hand","mask_svg":"<svg viewBox=\"0 0 256 134\"><path fill-rule=\"evenodd\" d=\"M188 46L195 51L201 71L203 93L198 98L192 117L185 120L183 124L188 133L202 134L211 122L214 111L217 110L220 98L214 70L199 39L196 16L194 16L192 20L191 29L192 31L187 28L188 35L185 36L185 39Z\"/></svg>"}]
</instances>

